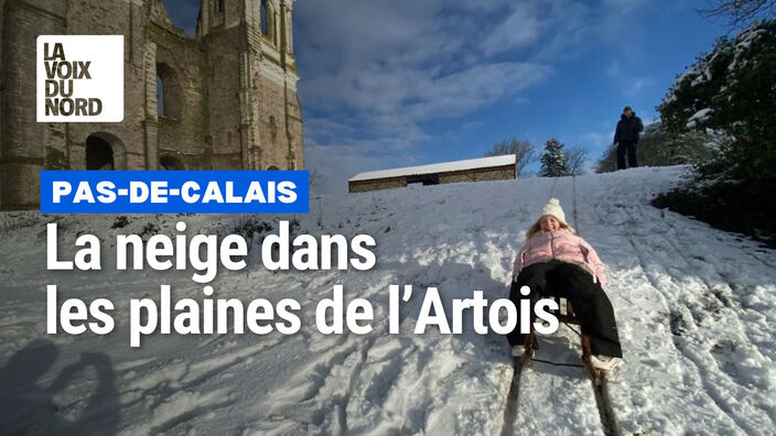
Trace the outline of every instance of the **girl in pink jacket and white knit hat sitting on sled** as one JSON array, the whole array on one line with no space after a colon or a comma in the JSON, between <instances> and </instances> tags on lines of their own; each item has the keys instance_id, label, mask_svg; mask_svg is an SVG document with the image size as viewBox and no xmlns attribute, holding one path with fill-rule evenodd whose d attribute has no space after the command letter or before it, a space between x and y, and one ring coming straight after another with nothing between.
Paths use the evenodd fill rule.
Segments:
<instances>
[{"instance_id":1,"label":"girl in pink jacket and white knit hat sitting on sled","mask_svg":"<svg viewBox=\"0 0 776 436\"><path fill-rule=\"evenodd\" d=\"M568 298L582 333L590 335L593 366L611 371L619 363L623 350L614 308L603 290L604 264L593 247L565 224L565 214L557 198L550 198L528 229L526 243L515 258L513 274L509 299L517 307L522 298L531 302L543 295ZM527 296L520 293L522 286L530 290ZM521 355L526 335L516 328L507 339L513 356Z\"/></svg>"}]
</instances>

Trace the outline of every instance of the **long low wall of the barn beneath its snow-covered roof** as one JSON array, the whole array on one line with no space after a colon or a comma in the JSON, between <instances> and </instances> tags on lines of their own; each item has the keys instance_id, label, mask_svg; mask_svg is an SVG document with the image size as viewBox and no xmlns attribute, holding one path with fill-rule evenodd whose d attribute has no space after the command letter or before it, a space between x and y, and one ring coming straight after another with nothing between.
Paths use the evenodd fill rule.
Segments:
<instances>
[{"instance_id":1,"label":"long low wall of the barn beneath its snow-covered roof","mask_svg":"<svg viewBox=\"0 0 776 436\"><path fill-rule=\"evenodd\" d=\"M461 171L445 171L439 173L349 181L347 185L348 192L351 193L364 193L368 190L392 189L413 183L421 183L423 185L441 185L445 183L459 182L502 181L516 177L517 168L515 164L510 164Z\"/></svg>"}]
</instances>

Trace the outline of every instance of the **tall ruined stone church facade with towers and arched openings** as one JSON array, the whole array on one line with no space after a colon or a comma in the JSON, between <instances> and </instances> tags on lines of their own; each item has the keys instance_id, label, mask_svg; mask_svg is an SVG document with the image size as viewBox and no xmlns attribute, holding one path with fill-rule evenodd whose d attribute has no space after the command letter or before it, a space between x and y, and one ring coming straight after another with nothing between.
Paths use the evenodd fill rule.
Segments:
<instances>
[{"instance_id":1,"label":"tall ruined stone church facade with towers and arched openings","mask_svg":"<svg viewBox=\"0 0 776 436\"><path fill-rule=\"evenodd\" d=\"M160 0L0 0L0 210L41 170L303 168L293 2L201 0L188 37ZM125 36L122 122L35 121L42 34Z\"/></svg>"}]
</instances>

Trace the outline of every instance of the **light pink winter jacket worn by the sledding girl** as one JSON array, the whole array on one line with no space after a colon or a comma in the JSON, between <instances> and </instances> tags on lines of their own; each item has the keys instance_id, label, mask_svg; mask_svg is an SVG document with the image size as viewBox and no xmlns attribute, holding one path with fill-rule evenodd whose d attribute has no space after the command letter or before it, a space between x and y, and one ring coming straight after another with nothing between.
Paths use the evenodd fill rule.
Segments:
<instances>
[{"instance_id":1,"label":"light pink winter jacket worn by the sledding girl","mask_svg":"<svg viewBox=\"0 0 776 436\"><path fill-rule=\"evenodd\" d=\"M527 240L515 258L513 274L519 274L520 270L530 264L551 260L575 263L599 277L602 286L606 284L604 264L599 254L588 241L565 229L539 230L534 238Z\"/></svg>"}]
</instances>

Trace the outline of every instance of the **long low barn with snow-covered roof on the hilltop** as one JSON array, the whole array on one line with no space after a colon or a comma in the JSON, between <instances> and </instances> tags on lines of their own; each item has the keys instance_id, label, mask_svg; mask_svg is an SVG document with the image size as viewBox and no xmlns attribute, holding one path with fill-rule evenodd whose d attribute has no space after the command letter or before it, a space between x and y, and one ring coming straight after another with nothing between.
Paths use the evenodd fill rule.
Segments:
<instances>
[{"instance_id":1,"label":"long low barn with snow-covered roof on the hilltop","mask_svg":"<svg viewBox=\"0 0 776 436\"><path fill-rule=\"evenodd\" d=\"M391 189L411 184L500 181L517 177L515 155L468 159L403 168L369 171L347 181L348 192Z\"/></svg>"}]
</instances>

